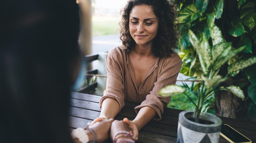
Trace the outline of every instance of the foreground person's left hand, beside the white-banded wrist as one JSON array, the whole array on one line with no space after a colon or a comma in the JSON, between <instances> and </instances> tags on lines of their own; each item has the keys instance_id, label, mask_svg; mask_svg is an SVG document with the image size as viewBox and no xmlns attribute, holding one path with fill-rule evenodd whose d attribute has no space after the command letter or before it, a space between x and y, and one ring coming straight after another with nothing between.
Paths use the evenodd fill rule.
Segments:
<instances>
[{"instance_id":1,"label":"foreground person's left hand, beside the white-banded wrist","mask_svg":"<svg viewBox=\"0 0 256 143\"><path fill-rule=\"evenodd\" d=\"M108 139L109 129L111 127L112 122L114 119L97 119L97 122L93 125L90 125L89 128L92 128L96 131L97 134L97 142L103 142Z\"/></svg>"}]
</instances>

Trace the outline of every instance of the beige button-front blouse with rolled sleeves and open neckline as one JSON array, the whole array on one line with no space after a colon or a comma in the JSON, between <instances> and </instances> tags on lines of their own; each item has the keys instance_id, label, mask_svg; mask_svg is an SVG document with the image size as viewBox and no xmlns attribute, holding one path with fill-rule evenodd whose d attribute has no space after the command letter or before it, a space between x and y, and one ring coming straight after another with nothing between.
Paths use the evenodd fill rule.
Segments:
<instances>
[{"instance_id":1,"label":"beige button-front blouse with rolled sleeves and open neckline","mask_svg":"<svg viewBox=\"0 0 256 143\"><path fill-rule=\"evenodd\" d=\"M171 97L163 98L157 93L162 87L176 83L181 64L181 58L175 52L171 57L158 58L137 88L127 52L123 52L121 46L111 49L106 56L107 86L99 102L100 108L106 98L115 99L120 110L124 107L124 101L138 102L141 104L135 107L137 114L140 108L149 106L157 113L154 119L160 120L163 107L167 106Z\"/></svg>"}]
</instances>

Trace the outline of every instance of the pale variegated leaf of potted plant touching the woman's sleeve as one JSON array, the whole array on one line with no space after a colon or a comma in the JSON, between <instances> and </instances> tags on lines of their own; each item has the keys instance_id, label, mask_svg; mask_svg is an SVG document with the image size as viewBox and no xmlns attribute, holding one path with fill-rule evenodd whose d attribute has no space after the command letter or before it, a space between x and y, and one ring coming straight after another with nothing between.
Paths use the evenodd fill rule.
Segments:
<instances>
[{"instance_id":1,"label":"pale variegated leaf of potted plant touching the woman's sleeve","mask_svg":"<svg viewBox=\"0 0 256 143\"><path fill-rule=\"evenodd\" d=\"M181 94L186 92L186 88L178 85L169 85L159 90L158 94L162 97L169 97L175 94Z\"/></svg>"}]
</instances>

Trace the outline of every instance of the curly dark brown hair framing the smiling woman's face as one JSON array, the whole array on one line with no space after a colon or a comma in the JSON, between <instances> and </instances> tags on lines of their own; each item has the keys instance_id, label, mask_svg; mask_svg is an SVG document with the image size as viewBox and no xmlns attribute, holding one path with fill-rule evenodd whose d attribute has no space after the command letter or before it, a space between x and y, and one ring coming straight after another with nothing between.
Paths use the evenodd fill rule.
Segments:
<instances>
[{"instance_id":1,"label":"curly dark brown hair framing the smiling woman's face","mask_svg":"<svg viewBox=\"0 0 256 143\"><path fill-rule=\"evenodd\" d=\"M129 32L129 16L132 8L138 5L152 6L154 14L159 19L159 28L156 38L152 42L152 51L156 57L171 56L178 44L177 6L172 0L129 0L121 10L120 40L123 51L130 52L135 41Z\"/></svg>"}]
</instances>

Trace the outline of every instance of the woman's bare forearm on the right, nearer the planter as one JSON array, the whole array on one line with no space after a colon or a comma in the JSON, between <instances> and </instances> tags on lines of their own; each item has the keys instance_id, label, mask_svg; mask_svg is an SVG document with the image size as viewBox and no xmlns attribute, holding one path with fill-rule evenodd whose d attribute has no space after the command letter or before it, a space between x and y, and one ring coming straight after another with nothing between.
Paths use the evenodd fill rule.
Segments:
<instances>
[{"instance_id":1,"label":"woman's bare forearm on the right, nearer the planter","mask_svg":"<svg viewBox=\"0 0 256 143\"><path fill-rule=\"evenodd\" d=\"M156 111L151 107L143 107L139 110L138 115L133 120L136 124L138 130L145 126L149 121L151 121L156 116Z\"/></svg>"}]
</instances>

